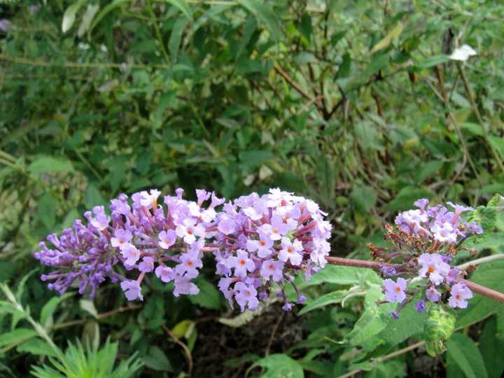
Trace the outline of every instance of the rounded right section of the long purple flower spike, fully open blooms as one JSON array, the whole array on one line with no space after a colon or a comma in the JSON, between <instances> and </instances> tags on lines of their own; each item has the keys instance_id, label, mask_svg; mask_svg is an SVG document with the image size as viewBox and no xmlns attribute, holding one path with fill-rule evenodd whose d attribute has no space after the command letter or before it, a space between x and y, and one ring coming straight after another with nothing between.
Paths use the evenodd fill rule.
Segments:
<instances>
[{"instance_id":1,"label":"rounded right section of the long purple flower spike, fully open blooms","mask_svg":"<svg viewBox=\"0 0 504 378\"><path fill-rule=\"evenodd\" d=\"M330 223L318 205L279 189L267 195L239 197L218 214L216 272L219 288L230 302L254 310L269 296L274 284L281 288L283 309L290 310L285 283L304 272L307 279L325 266L329 254ZM297 288L297 302L304 302Z\"/></svg>"}]
</instances>

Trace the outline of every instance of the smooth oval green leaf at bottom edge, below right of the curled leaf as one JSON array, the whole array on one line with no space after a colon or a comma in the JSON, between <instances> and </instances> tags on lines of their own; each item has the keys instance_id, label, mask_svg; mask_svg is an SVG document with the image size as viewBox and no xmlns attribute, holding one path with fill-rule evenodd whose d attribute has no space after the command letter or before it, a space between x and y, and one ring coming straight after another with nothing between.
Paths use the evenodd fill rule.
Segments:
<instances>
[{"instance_id":1,"label":"smooth oval green leaf at bottom edge, below right of the curled leaf","mask_svg":"<svg viewBox=\"0 0 504 378\"><path fill-rule=\"evenodd\" d=\"M469 337L455 333L447 342L447 353L467 378L487 378L483 358Z\"/></svg>"}]
</instances>

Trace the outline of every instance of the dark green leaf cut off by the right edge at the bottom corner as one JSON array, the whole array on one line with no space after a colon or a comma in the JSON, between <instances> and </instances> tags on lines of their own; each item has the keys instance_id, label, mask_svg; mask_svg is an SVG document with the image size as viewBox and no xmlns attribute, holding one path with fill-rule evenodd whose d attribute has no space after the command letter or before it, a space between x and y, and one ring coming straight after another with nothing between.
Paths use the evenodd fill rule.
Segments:
<instances>
[{"instance_id":1,"label":"dark green leaf cut off by the right edge at the bottom corner","mask_svg":"<svg viewBox=\"0 0 504 378\"><path fill-rule=\"evenodd\" d=\"M498 337L497 320L492 317L486 322L479 338L481 351L489 378L500 378L504 372L504 339Z\"/></svg>"}]
</instances>

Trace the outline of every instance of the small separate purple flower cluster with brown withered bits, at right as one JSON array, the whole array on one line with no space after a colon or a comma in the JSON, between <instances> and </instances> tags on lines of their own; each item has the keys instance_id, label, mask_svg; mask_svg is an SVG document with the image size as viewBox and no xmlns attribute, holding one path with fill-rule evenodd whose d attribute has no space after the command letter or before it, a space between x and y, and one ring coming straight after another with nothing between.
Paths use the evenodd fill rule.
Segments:
<instances>
[{"instance_id":1,"label":"small separate purple flower cluster with brown withered bits, at right","mask_svg":"<svg viewBox=\"0 0 504 378\"><path fill-rule=\"evenodd\" d=\"M388 227L385 237L395 245L395 251L381 253L386 248L371 247L374 257L386 262L381 267L383 276L402 276L396 281L384 280L385 302L400 303L398 310L394 311L394 317L423 290L422 299L414 304L416 311L423 312L426 301L442 302L444 292L449 293L449 307L467 307L472 292L461 281L464 272L451 267L449 262L458 253L461 241L469 235L483 232L477 223L468 224L461 218L464 211L472 208L451 202L448 205L454 211L448 211L441 205L427 207L426 199L414 204L418 209L404 211L395 218L399 232ZM407 290L407 285L413 279L422 279L425 284Z\"/></svg>"}]
</instances>

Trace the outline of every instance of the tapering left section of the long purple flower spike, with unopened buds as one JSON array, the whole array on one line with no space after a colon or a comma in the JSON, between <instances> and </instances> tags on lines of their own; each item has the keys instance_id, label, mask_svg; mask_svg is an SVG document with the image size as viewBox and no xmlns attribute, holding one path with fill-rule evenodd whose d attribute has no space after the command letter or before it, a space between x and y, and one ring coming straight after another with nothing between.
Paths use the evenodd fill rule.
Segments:
<instances>
[{"instance_id":1,"label":"tapering left section of the long purple flower spike, with unopened buds","mask_svg":"<svg viewBox=\"0 0 504 378\"><path fill-rule=\"evenodd\" d=\"M158 190L134 193L111 200L111 215L98 206L87 211L87 225L81 221L63 235L49 235L53 248L40 244L35 258L55 271L43 275L50 289L64 293L78 281L79 293L91 287L94 295L106 277L121 281L128 300L143 299L141 283L146 273L154 272L163 282L174 282L174 295L194 295L199 289L192 282L202 267L204 252L214 251L207 239L216 235L216 210L224 200L214 193L197 190L197 202L183 200L183 190L164 197L158 204ZM204 202L210 201L207 207ZM127 279L113 266L120 263L127 271L137 272L137 279Z\"/></svg>"}]
</instances>

